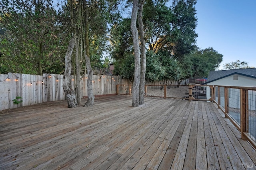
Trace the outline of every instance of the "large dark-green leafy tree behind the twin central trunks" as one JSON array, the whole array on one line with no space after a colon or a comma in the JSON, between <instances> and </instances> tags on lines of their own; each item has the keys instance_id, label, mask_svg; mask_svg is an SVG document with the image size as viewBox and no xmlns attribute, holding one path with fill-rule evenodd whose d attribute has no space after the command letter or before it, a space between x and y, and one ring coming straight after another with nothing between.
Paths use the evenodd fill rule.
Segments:
<instances>
[{"instance_id":1,"label":"large dark-green leafy tree behind the twin central trunks","mask_svg":"<svg viewBox=\"0 0 256 170\"><path fill-rule=\"evenodd\" d=\"M195 17L195 2L196 0L174 0L172 6L168 7L167 0L146 0L142 13L145 47L147 46L149 51L157 54L147 54L146 59L148 59L148 56L153 56L157 59L155 62L152 60L150 62L146 61L147 81L154 80L152 75L156 75L156 79L161 81L169 78L180 80L191 76L190 67L184 65L182 61L196 47L195 38L197 34L195 33L195 28L197 19ZM131 74L131 69L134 65L128 61L128 58L133 53L132 34L128 29L129 24L130 19L124 18L119 24L112 27L111 44L113 45L112 58L115 60L115 66L118 66L115 67L115 73L132 79L134 76ZM141 37L140 35L140 40L142 40ZM140 44L142 49L142 42ZM149 57L149 59L153 57ZM141 61L143 61L142 55ZM161 64L159 67L152 67L158 62ZM150 67L151 70L148 70ZM186 70L183 71L183 68L186 68ZM161 71L156 74L156 70ZM160 75L161 77L159 77Z\"/></svg>"}]
</instances>

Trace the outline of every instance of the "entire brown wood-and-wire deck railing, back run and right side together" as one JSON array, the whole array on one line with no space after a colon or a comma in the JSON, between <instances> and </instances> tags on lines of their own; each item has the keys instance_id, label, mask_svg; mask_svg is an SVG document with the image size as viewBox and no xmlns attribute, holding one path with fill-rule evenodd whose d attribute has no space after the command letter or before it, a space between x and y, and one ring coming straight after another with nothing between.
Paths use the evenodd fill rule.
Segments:
<instances>
[{"instance_id":1,"label":"entire brown wood-and-wire deck railing, back run and right side together","mask_svg":"<svg viewBox=\"0 0 256 170\"><path fill-rule=\"evenodd\" d=\"M117 94L132 95L132 85L116 85ZM145 85L146 97L211 101L256 148L256 87L216 85Z\"/></svg>"}]
</instances>

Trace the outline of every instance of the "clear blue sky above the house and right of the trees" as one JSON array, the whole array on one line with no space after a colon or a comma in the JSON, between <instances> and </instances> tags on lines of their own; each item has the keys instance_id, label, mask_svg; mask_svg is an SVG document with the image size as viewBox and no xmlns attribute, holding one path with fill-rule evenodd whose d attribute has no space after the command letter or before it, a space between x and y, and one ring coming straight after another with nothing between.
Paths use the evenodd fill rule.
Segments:
<instances>
[{"instance_id":1,"label":"clear blue sky above the house and right of the trees","mask_svg":"<svg viewBox=\"0 0 256 170\"><path fill-rule=\"evenodd\" d=\"M197 46L213 47L225 63L246 61L256 67L256 0L197 0Z\"/></svg>"}]
</instances>

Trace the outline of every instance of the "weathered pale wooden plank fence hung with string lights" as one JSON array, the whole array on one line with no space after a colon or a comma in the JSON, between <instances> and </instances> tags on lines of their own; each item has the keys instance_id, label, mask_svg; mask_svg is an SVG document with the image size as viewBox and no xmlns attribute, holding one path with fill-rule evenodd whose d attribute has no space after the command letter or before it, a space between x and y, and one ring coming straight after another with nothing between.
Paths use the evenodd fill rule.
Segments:
<instances>
[{"instance_id":1,"label":"weathered pale wooden plank fence hung with string lights","mask_svg":"<svg viewBox=\"0 0 256 170\"><path fill-rule=\"evenodd\" d=\"M74 79L72 87L74 89ZM82 77L81 97L87 96L87 77ZM116 94L117 84L127 84L128 80L119 76L93 75L94 95ZM47 101L65 100L63 75L29 75L20 73L0 74L0 111ZM12 100L22 97L19 104Z\"/></svg>"}]
</instances>

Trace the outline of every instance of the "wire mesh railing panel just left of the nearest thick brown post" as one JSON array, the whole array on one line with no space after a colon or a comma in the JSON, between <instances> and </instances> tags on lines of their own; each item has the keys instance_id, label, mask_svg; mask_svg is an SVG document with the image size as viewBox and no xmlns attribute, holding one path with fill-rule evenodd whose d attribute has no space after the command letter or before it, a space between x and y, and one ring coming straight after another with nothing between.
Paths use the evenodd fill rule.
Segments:
<instances>
[{"instance_id":1,"label":"wire mesh railing panel just left of the nearest thick brown post","mask_svg":"<svg viewBox=\"0 0 256 170\"><path fill-rule=\"evenodd\" d=\"M240 125L240 89L228 88L228 114Z\"/></svg>"}]
</instances>

